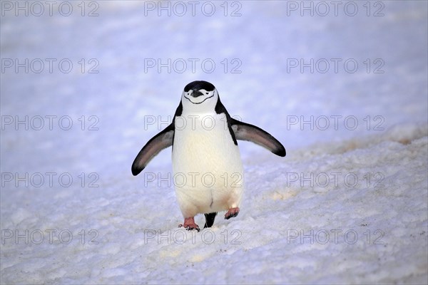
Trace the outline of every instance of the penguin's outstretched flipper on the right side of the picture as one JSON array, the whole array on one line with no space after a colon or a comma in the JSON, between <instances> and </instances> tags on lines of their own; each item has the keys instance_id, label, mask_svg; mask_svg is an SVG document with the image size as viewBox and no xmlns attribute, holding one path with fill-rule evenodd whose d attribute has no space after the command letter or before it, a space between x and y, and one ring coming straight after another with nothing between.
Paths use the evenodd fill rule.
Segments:
<instances>
[{"instance_id":1,"label":"penguin's outstretched flipper on the right side of the picture","mask_svg":"<svg viewBox=\"0 0 428 285\"><path fill-rule=\"evenodd\" d=\"M236 140L248 140L265 147L267 150L275 153L275 155L285 156L285 147L265 130L233 118L230 118L230 125Z\"/></svg>"}]
</instances>

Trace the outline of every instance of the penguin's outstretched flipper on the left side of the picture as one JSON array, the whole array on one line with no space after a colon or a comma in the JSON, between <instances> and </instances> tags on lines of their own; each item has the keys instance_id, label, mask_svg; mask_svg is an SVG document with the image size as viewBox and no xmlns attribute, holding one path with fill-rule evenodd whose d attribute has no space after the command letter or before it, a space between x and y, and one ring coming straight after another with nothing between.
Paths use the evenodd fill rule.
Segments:
<instances>
[{"instance_id":1,"label":"penguin's outstretched flipper on the left side of the picture","mask_svg":"<svg viewBox=\"0 0 428 285\"><path fill-rule=\"evenodd\" d=\"M143 171L143 169L148 165L148 162L161 152L161 150L173 145L174 130L175 126L172 123L144 145L140 152L138 152L138 155L133 161L131 167L131 171L134 176Z\"/></svg>"}]
</instances>

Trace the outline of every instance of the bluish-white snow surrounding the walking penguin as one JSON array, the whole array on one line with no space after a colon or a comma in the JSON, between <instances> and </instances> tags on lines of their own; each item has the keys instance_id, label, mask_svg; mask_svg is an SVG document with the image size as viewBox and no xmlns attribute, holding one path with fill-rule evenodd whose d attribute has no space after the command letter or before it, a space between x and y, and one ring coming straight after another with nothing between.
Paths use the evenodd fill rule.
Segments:
<instances>
[{"instance_id":1,"label":"bluish-white snow surrounding the walking penguin","mask_svg":"<svg viewBox=\"0 0 428 285\"><path fill-rule=\"evenodd\" d=\"M48 2L1 1L1 284L427 284L426 1ZM186 232L131 163L194 80L287 156Z\"/></svg>"}]
</instances>

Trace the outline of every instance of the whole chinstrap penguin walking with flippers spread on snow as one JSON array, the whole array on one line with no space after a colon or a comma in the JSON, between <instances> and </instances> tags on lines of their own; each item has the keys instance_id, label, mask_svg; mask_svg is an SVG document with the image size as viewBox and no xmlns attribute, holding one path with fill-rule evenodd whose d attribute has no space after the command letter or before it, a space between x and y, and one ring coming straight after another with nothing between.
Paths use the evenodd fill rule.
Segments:
<instances>
[{"instance_id":1,"label":"whole chinstrap penguin walking with flippers spread on snow","mask_svg":"<svg viewBox=\"0 0 428 285\"><path fill-rule=\"evenodd\" d=\"M181 175L175 194L186 229L197 229L194 217L205 214L211 227L218 212L236 217L243 196L243 165L237 140L248 140L285 156L282 144L255 125L230 117L217 89L207 81L185 86L173 121L138 153L132 174L138 175L161 150L173 147L173 172Z\"/></svg>"}]
</instances>

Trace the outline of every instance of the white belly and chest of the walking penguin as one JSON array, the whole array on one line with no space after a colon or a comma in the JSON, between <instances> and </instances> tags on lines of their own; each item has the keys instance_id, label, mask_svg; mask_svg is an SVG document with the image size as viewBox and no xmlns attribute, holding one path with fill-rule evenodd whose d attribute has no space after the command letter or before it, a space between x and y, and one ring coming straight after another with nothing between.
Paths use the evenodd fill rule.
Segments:
<instances>
[{"instance_id":1,"label":"white belly and chest of the walking penguin","mask_svg":"<svg viewBox=\"0 0 428 285\"><path fill-rule=\"evenodd\" d=\"M175 120L173 181L183 216L240 207L243 165L225 115Z\"/></svg>"}]
</instances>

